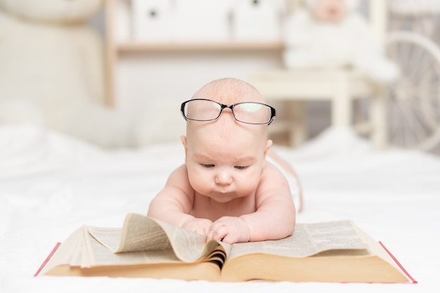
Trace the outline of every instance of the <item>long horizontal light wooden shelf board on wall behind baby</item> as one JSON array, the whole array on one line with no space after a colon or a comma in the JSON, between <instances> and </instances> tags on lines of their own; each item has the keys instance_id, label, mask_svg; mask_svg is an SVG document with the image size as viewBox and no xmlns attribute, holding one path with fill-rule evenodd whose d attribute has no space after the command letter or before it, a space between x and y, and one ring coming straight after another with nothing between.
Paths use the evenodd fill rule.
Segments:
<instances>
[{"instance_id":1,"label":"long horizontal light wooden shelf board on wall behind baby","mask_svg":"<svg viewBox=\"0 0 440 293\"><path fill-rule=\"evenodd\" d=\"M148 52L148 51L279 51L284 44L274 42L138 42L126 41L116 43L115 47L119 52Z\"/></svg>"}]
</instances>

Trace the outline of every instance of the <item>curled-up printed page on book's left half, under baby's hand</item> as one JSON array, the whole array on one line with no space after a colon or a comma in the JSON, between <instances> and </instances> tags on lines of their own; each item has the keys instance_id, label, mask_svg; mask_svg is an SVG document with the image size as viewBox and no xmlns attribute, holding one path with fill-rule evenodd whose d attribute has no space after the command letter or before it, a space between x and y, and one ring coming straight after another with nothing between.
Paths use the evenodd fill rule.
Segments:
<instances>
[{"instance_id":1,"label":"curled-up printed page on book's left half, under baby's hand","mask_svg":"<svg viewBox=\"0 0 440 293\"><path fill-rule=\"evenodd\" d=\"M203 261L213 256L216 250L223 255L223 259L226 254L218 242L205 243L204 235L139 214L127 214L122 230L110 232L104 228L90 227L89 231L112 252L172 249L181 261L188 263Z\"/></svg>"}]
</instances>

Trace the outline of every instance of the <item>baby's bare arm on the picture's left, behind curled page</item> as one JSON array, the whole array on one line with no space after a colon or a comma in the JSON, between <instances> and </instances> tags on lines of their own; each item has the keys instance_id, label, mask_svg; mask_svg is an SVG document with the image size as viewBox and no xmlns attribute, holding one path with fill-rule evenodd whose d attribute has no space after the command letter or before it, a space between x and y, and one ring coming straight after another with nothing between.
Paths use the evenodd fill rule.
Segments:
<instances>
[{"instance_id":1,"label":"baby's bare arm on the picture's left, behind curled page","mask_svg":"<svg viewBox=\"0 0 440 293\"><path fill-rule=\"evenodd\" d=\"M151 201L148 216L207 235L212 221L190 215L193 200L194 190L188 181L186 166L182 165L172 172L164 189Z\"/></svg>"}]
</instances>

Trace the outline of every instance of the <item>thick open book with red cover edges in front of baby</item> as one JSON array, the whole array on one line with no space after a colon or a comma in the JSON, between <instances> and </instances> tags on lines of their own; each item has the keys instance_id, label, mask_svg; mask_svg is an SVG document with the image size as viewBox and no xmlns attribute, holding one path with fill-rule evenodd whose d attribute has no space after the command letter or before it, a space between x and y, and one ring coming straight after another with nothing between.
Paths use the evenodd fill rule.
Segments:
<instances>
[{"instance_id":1,"label":"thick open book with red cover edges in front of baby","mask_svg":"<svg viewBox=\"0 0 440 293\"><path fill-rule=\"evenodd\" d=\"M123 228L82 226L36 275L183 280L415 282L352 221L297 223L281 240L228 245L139 214Z\"/></svg>"}]
</instances>

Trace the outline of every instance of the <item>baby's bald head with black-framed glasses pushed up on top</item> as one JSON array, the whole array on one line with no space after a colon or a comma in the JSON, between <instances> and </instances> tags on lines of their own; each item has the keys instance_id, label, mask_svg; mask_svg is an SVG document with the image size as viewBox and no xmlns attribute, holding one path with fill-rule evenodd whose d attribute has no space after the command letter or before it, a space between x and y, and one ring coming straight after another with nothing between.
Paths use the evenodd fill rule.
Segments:
<instances>
[{"instance_id":1,"label":"baby's bald head with black-framed glasses pushed up on top","mask_svg":"<svg viewBox=\"0 0 440 293\"><path fill-rule=\"evenodd\" d=\"M202 86L194 94L194 99L209 99L224 105L264 103L257 89L232 78L217 79ZM189 111L194 111L194 115L209 116L202 119L213 120L188 119L182 142L193 188L218 202L228 202L249 195L257 188L266 154L272 144L267 139L268 126L264 124L270 121L272 112L266 105L243 104L234 108L236 119L230 108L224 108L220 117L214 119L220 108L219 104L202 101L200 107L197 104L188 110L188 115L193 115ZM209 115L210 111L214 113L213 116ZM237 119L261 124L247 124Z\"/></svg>"}]
</instances>

